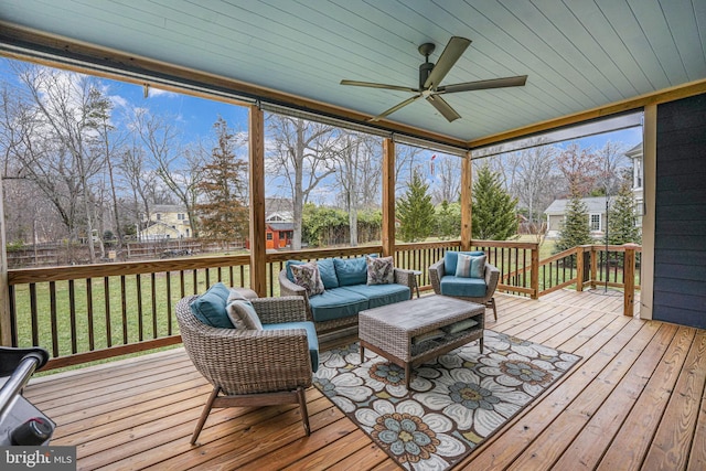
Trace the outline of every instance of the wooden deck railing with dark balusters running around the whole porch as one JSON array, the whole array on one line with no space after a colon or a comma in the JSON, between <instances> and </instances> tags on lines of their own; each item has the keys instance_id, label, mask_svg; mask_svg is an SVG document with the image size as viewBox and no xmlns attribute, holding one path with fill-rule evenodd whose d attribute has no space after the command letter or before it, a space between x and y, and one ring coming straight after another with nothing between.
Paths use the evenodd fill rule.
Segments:
<instances>
[{"instance_id":1,"label":"wooden deck railing with dark balusters running around the whole porch","mask_svg":"<svg viewBox=\"0 0 706 471\"><path fill-rule=\"evenodd\" d=\"M420 271L420 289L429 290L428 267L460 247L460 240L398 244L395 265ZM628 291L640 286L639 275L628 276L631 257L637 255L639 265L639 246L610 246L608 255L601 246L577 247L542 261L533 243L473 240L472 248L485 251L501 270L500 291L534 299L570 285L580 290L608 282L624 287L628 312ZM268 253L267 296L279 296L277 277L288 259L355 257L382 249L372 245ZM216 281L250 286L249 263L249 255L233 255L9 270L12 344L45 346L52 355L49 367L62 367L179 343L173 318L179 299ZM634 287L625 278L634 279Z\"/></svg>"}]
</instances>

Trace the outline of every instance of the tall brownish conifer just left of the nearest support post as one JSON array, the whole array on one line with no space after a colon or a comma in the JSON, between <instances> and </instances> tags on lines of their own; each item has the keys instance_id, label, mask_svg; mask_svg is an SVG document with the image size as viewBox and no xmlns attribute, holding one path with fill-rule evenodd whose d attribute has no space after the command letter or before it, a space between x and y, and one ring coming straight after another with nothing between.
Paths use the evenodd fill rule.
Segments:
<instances>
[{"instance_id":1,"label":"tall brownish conifer just left of the nearest support post","mask_svg":"<svg viewBox=\"0 0 706 471\"><path fill-rule=\"evenodd\" d=\"M218 117L213 125L218 142L212 159L203 169L199 183L204 202L196 205L204 235L233 239L248 233L248 213L244 204L246 180L243 176L247 163L235 156L235 136L226 121Z\"/></svg>"}]
</instances>

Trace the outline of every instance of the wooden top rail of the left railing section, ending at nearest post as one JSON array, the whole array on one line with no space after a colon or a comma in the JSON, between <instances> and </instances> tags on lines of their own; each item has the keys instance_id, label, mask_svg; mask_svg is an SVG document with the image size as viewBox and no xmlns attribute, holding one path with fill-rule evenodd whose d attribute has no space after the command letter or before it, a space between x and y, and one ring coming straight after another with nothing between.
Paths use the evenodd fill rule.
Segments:
<instances>
[{"instance_id":1,"label":"wooden top rail of the left railing section, ending at nearest post","mask_svg":"<svg viewBox=\"0 0 706 471\"><path fill-rule=\"evenodd\" d=\"M43 281L63 281L121 275L158 274L163 271L248 265L249 255L217 257L170 258L168 260L116 261L96 265L66 265L49 268L22 268L8 270L8 283L21 285Z\"/></svg>"}]
</instances>

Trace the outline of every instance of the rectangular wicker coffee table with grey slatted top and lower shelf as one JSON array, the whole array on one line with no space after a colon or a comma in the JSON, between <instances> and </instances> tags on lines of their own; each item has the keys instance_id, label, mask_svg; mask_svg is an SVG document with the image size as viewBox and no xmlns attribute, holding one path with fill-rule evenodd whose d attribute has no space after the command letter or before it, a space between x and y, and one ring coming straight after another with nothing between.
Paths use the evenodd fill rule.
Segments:
<instances>
[{"instance_id":1,"label":"rectangular wicker coffee table with grey slatted top and lower shelf","mask_svg":"<svg viewBox=\"0 0 706 471\"><path fill-rule=\"evenodd\" d=\"M484 318L484 306L446 296L427 296L362 311L361 363L365 349L377 353L405 370L409 389L411 366L477 339L482 352Z\"/></svg>"}]
</instances>

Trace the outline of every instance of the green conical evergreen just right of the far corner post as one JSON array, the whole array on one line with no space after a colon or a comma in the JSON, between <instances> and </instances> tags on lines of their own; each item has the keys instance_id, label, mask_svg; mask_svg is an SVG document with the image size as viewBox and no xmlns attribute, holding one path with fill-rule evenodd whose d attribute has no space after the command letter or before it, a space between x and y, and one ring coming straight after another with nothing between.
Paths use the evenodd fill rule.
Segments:
<instances>
[{"instance_id":1,"label":"green conical evergreen just right of the far corner post","mask_svg":"<svg viewBox=\"0 0 706 471\"><path fill-rule=\"evenodd\" d=\"M500 175L484 164L473 183L472 236L482 240L506 240L517 234L517 199L503 189Z\"/></svg>"}]
</instances>

